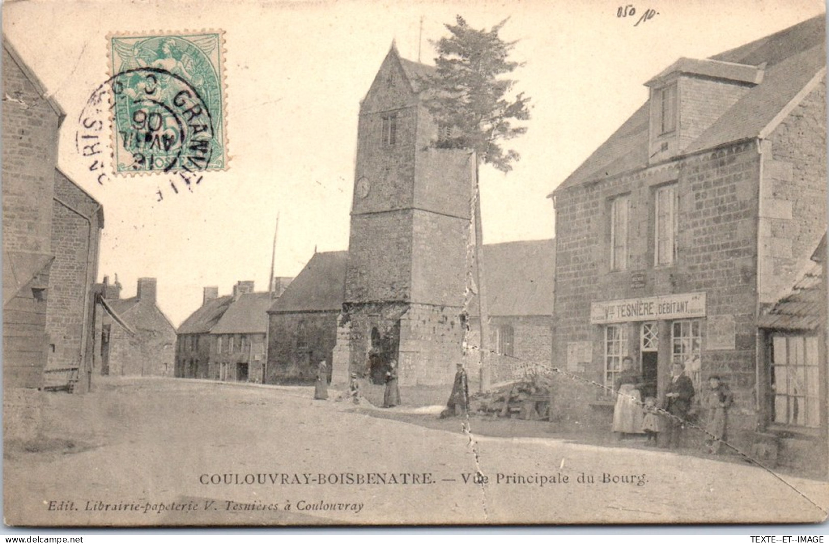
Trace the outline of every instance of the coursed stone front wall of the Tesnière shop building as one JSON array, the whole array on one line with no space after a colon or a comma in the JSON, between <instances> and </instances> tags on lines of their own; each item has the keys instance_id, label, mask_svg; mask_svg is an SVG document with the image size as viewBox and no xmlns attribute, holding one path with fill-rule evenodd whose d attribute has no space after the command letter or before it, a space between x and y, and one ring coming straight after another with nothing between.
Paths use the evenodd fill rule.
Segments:
<instances>
[{"instance_id":1,"label":"coursed stone front wall of the Tesni\u00e8re shop building","mask_svg":"<svg viewBox=\"0 0 829 544\"><path fill-rule=\"evenodd\" d=\"M757 262L757 185L760 156L755 142L689 156L627 176L562 190L556 195L554 363L567 369L573 342L592 345L591 360L567 370L558 403L573 421L596 417L609 401L604 390L603 326L590 324L590 303L670 293L705 292L701 379L723 375L735 394L734 419L754 429ZM654 195L676 183L678 236L672 266L654 266ZM628 268L611 271L610 202L630 195ZM706 349L705 321L734 325L733 348ZM628 353L639 357L638 323L628 324ZM670 328L661 325L658 372L669 376ZM564 379L564 378L563 378ZM602 416L605 417L605 416ZM609 425L609 420L607 421Z\"/></svg>"}]
</instances>

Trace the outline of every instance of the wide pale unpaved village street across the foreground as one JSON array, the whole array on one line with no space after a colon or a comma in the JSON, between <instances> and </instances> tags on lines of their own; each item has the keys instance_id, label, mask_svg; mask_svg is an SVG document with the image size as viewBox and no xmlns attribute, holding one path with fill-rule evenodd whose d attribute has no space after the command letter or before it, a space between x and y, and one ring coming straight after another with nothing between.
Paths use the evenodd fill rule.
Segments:
<instances>
[{"instance_id":1,"label":"wide pale unpaved village street across the foreground","mask_svg":"<svg viewBox=\"0 0 829 544\"><path fill-rule=\"evenodd\" d=\"M757 523L819 521L829 506L825 482L476 436L474 418L470 442L461 420L455 433L427 429L314 401L312 388L133 378L46 398L44 438L27 445L37 451L6 452L9 524Z\"/></svg>"}]
</instances>

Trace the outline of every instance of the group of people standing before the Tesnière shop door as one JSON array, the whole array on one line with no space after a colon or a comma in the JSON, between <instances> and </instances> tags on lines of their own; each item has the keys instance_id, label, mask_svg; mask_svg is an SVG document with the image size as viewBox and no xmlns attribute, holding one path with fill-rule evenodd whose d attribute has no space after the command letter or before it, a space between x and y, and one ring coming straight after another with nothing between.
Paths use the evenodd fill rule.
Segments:
<instances>
[{"instance_id":1,"label":"group of people standing before the Tesni\u00e8re shop door","mask_svg":"<svg viewBox=\"0 0 829 544\"><path fill-rule=\"evenodd\" d=\"M627 434L644 433L648 444L678 447L696 395L691 378L685 375L685 366L678 362L671 365L671 382L661 404L656 397L642 400L643 385L642 376L633 368L633 359L622 359L622 371L614 384L613 432L620 440ZM705 448L712 454L722 449L728 410L733 402L730 389L719 376L708 378L708 388L701 394L699 407L705 421Z\"/></svg>"}]
</instances>

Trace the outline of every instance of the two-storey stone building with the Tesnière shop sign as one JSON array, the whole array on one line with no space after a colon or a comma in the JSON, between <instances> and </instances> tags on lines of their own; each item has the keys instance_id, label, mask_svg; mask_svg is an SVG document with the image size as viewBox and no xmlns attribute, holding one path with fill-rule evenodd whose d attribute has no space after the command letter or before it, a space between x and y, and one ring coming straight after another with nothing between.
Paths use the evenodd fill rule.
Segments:
<instances>
[{"instance_id":1,"label":"two-storey stone building with the Tesni\u00e8re shop sign","mask_svg":"<svg viewBox=\"0 0 829 544\"><path fill-rule=\"evenodd\" d=\"M681 58L550 195L555 412L609 426L626 354L660 395L672 362L734 392L733 438L770 397L759 315L825 231L825 23L815 17L709 59ZM820 421L826 426L826 421ZM803 429L797 421L790 431Z\"/></svg>"}]
</instances>

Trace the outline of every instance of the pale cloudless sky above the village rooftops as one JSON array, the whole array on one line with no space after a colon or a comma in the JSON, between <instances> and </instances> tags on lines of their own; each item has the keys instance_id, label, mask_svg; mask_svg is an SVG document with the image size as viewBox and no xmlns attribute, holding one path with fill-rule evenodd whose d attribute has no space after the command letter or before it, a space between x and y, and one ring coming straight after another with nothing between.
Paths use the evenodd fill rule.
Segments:
<instances>
[{"instance_id":1,"label":"pale cloudless sky above the village rooftops","mask_svg":"<svg viewBox=\"0 0 829 544\"><path fill-rule=\"evenodd\" d=\"M629 2L630 0L628 0ZM633 6L634 17L618 17ZM655 15L636 22L647 9ZM481 172L485 243L553 238L547 195L647 100L644 83L680 56L705 58L825 11L815 0L648 2L164 2L27 0L3 6L3 32L66 112L59 166L104 206L99 279L122 296L158 278L158 304L176 325L203 286L268 285L318 251L347 249L357 113L395 41L434 64L430 41L463 15L517 41L513 79L532 99L521 161ZM221 29L230 163L191 191L157 191L161 176L99 185L75 150L78 118L109 78L107 35Z\"/></svg>"}]
</instances>

